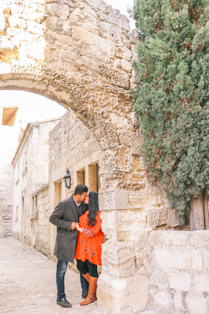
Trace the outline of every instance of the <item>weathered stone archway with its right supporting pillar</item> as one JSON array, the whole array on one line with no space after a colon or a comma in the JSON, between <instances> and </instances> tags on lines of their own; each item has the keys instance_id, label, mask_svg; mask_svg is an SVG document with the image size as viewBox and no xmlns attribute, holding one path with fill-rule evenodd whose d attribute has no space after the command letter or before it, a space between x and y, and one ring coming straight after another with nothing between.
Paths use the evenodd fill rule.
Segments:
<instances>
[{"instance_id":1,"label":"weathered stone archway with its right supporting pillar","mask_svg":"<svg viewBox=\"0 0 209 314\"><path fill-rule=\"evenodd\" d=\"M70 108L100 148L100 209L108 241L98 304L118 314L144 310L149 238L144 230L165 202L146 183L137 156L141 134L129 89L138 32L128 35L128 19L100 0L2 3L0 89L31 91ZM147 208L153 211L149 219Z\"/></svg>"}]
</instances>

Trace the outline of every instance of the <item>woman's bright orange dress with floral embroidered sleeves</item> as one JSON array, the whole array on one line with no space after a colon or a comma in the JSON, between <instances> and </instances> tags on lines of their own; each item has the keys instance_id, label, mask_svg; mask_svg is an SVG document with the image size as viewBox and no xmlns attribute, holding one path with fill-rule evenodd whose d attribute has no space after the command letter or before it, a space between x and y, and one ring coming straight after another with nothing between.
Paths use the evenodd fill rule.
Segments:
<instances>
[{"instance_id":1,"label":"woman's bright orange dress with floral embroidered sleeves","mask_svg":"<svg viewBox=\"0 0 209 314\"><path fill-rule=\"evenodd\" d=\"M80 259L82 262L88 259L92 264L102 265L101 253L104 233L101 229L100 213L101 211L97 213L97 223L93 227L87 225L88 211L79 218L79 225L83 228L83 232L78 233L75 259Z\"/></svg>"}]
</instances>

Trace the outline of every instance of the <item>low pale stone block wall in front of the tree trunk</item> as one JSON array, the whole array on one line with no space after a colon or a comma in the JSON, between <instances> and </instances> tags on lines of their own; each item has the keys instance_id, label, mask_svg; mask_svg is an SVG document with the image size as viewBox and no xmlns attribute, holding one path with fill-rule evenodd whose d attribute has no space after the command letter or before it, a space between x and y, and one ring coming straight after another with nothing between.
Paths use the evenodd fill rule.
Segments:
<instances>
[{"instance_id":1,"label":"low pale stone block wall in front of the tree trunk","mask_svg":"<svg viewBox=\"0 0 209 314\"><path fill-rule=\"evenodd\" d=\"M149 301L178 313L209 312L209 230L150 233Z\"/></svg>"}]
</instances>

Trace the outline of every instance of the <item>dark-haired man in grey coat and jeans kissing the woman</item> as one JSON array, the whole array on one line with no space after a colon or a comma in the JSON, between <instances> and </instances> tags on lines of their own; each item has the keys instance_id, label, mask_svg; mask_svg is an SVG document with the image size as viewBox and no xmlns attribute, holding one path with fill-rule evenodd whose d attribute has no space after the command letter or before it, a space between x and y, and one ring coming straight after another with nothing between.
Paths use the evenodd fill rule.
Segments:
<instances>
[{"instance_id":1,"label":"dark-haired man in grey coat and jeans kissing the woman","mask_svg":"<svg viewBox=\"0 0 209 314\"><path fill-rule=\"evenodd\" d=\"M50 223L57 226L54 254L58 258L56 283L57 283L57 304L62 307L71 307L71 303L65 296L65 273L68 262L74 262L76 242L78 236L78 207L84 203L87 197L88 188L78 184L74 194L65 198L57 204L50 216ZM83 285L83 281L81 285ZM83 287L82 287L83 291Z\"/></svg>"}]
</instances>

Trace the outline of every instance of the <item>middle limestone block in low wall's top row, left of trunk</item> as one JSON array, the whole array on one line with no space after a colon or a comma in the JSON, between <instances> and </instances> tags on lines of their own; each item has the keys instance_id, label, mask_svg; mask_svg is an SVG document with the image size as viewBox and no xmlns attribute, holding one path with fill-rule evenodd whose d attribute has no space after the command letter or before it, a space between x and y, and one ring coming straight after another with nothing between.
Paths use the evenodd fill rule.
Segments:
<instances>
[{"instance_id":1,"label":"middle limestone block in low wall's top row, left of trunk","mask_svg":"<svg viewBox=\"0 0 209 314\"><path fill-rule=\"evenodd\" d=\"M187 231L163 231L163 243L166 245L186 246L189 232Z\"/></svg>"}]
</instances>

